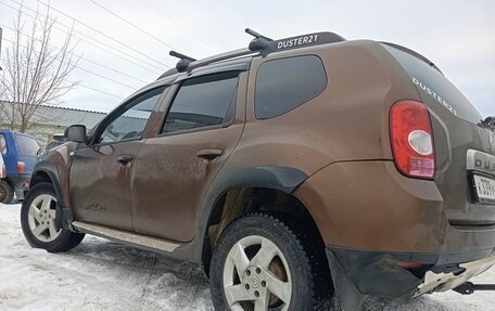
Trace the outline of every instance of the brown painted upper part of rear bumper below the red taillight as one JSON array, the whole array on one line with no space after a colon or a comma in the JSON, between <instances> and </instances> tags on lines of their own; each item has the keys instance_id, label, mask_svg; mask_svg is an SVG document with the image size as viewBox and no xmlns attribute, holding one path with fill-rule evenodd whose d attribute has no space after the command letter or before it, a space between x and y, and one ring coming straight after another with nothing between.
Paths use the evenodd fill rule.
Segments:
<instances>
[{"instance_id":1,"label":"brown painted upper part of rear bumper below the red taillight","mask_svg":"<svg viewBox=\"0 0 495 311\"><path fill-rule=\"evenodd\" d=\"M310 176L294 194L308 208L327 246L464 254L459 262L475 260L469 255L472 249L495 248L495 225L453 226L436 184L402 176L390 160L334 163ZM429 260L436 261L434 256ZM441 260L458 261L448 256Z\"/></svg>"}]
</instances>

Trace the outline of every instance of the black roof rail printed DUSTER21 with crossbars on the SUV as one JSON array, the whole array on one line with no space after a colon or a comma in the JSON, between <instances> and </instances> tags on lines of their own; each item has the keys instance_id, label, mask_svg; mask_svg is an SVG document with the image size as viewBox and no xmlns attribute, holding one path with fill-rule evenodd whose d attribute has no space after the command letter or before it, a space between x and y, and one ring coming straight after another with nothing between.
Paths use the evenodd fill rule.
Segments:
<instances>
[{"instance_id":1,"label":"black roof rail printed DUSTER21 with crossbars on the SUV","mask_svg":"<svg viewBox=\"0 0 495 311\"><path fill-rule=\"evenodd\" d=\"M345 41L344 38L333 33L314 33L279 40L272 40L268 37L259 35L258 33L250 28L245 28L245 33L254 37L254 39L250 42L249 48L230 51L227 53L214 55L199 61L195 61L192 57L186 56L175 51L170 51L172 56L180 59L180 61L176 65L177 72L182 73L187 70L192 70L194 68L205 66L212 63L244 56L253 53L267 55L269 53L278 51L293 50L299 48ZM162 75L160 78L166 76L167 73Z\"/></svg>"}]
</instances>

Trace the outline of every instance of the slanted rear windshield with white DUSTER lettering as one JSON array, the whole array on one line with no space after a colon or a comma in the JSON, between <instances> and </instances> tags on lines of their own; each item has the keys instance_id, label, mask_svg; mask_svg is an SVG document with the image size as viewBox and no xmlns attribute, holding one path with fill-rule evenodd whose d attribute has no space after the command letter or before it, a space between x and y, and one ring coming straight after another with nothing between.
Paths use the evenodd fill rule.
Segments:
<instances>
[{"instance_id":1,"label":"slanted rear windshield with white DUSTER lettering","mask_svg":"<svg viewBox=\"0 0 495 311\"><path fill-rule=\"evenodd\" d=\"M464 120L480 122L480 113L445 76L411 54L386 44L382 46L401 63L421 92L421 96L430 96L436 104Z\"/></svg>"}]
</instances>

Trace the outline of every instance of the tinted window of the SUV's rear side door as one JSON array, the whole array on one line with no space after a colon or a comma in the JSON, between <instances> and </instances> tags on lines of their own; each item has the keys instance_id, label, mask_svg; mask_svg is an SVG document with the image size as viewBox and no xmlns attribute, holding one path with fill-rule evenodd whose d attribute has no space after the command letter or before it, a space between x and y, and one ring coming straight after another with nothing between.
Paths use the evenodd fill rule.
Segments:
<instances>
[{"instance_id":1,"label":"tinted window of the SUV's rear side door","mask_svg":"<svg viewBox=\"0 0 495 311\"><path fill-rule=\"evenodd\" d=\"M186 80L172 103L163 132L227 125L233 119L238 72Z\"/></svg>"}]
</instances>

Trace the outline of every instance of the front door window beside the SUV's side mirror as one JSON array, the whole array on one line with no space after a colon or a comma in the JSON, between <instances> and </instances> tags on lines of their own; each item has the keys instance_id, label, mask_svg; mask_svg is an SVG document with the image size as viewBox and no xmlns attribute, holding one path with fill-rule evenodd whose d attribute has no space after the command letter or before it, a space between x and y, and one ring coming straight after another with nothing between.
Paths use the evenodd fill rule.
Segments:
<instances>
[{"instance_id":1,"label":"front door window beside the SUV's side mirror","mask_svg":"<svg viewBox=\"0 0 495 311\"><path fill-rule=\"evenodd\" d=\"M148 119L164 89L165 87L154 89L129 102L122 115L116 117L101 132L98 141L109 143L141 138Z\"/></svg>"}]
</instances>

